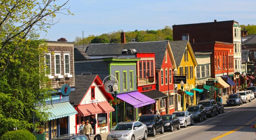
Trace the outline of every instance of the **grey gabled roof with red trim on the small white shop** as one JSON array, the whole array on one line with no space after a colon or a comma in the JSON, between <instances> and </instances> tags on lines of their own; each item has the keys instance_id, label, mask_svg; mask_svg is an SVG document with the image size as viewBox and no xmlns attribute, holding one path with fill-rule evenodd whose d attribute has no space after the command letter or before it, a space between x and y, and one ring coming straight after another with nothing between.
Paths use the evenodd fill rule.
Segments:
<instances>
[{"instance_id":1,"label":"grey gabled roof with red trim on the small white shop","mask_svg":"<svg viewBox=\"0 0 256 140\"><path fill-rule=\"evenodd\" d=\"M69 102L74 105L79 105L94 82L97 85L102 85L102 81L98 75L75 75L75 91L70 92ZM105 91L104 86L99 86L99 88L108 100L113 99L113 97Z\"/></svg>"}]
</instances>

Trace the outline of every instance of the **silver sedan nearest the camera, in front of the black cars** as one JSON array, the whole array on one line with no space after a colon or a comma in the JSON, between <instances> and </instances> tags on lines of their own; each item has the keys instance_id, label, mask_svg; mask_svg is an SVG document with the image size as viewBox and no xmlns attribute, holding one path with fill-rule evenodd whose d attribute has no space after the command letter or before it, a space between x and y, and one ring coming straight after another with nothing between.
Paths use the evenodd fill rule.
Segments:
<instances>
[{"instance_id":1,"label":"silver sedan nearest the camera, in front of the black cars","mask_svg":"<svg viewBox=\"0 0 256 140\"><path fill-rule=\"evenodd\" d=\"M147 126L139 121L121 122L107 135L107 140L147 140Z\"/></svg>"}]
</instances>

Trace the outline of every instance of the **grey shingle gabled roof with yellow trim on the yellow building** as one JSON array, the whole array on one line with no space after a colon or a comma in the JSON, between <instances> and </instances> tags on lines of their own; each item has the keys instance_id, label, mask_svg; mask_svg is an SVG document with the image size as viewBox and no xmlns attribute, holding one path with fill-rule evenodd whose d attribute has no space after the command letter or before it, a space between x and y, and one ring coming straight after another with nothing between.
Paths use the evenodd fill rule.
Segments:
<instances>
[{"instance_id":1,"label":"grey shingle gabled roof with yellow trim on the yellow building","mask_svg":"<svg viewBox=\"0 0 256 140\"><path fill-rule=\"evenodd\" d=\"M170 42L170 45L171 45L171 49L173 50L173 55L174 55L177 66L180 66L181 64L181 60L184 55L184 51L186 47L188 47L188 51L190 53L190 56L193 60L194 65L197 65L194 52L188 40L172 41Z\"/></svg>"}]
</instances>

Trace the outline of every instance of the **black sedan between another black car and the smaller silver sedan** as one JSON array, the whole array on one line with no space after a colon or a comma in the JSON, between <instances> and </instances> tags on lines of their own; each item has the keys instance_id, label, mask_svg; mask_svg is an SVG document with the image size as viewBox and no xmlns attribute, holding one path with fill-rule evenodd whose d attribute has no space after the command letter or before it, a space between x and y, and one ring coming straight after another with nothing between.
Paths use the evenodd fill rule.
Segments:
<instances>
[{"instance_id":1,"label":"black sedan between another black car and the smaller silver sedan","mask_svg":"<svg viewBox=\"0 0 256 140\"><path fill-rule=\"evenodd\" d=\"M174 128L177 128L177 130L180 130L180 119L176 117L175 114L171 115L161 115L161 118L163 119L164 124L164 131L169 130L173 132Z\"/></svg>"}]
</instances>

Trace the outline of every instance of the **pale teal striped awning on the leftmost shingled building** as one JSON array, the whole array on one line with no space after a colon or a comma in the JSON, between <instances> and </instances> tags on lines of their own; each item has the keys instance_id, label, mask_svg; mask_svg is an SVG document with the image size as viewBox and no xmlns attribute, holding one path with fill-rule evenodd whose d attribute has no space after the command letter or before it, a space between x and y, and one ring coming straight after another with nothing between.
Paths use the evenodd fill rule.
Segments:
<instances>
[{"instance_id":1,"label":"pale teal striped awning on the leftmost shingled building","mask_svg":"<svg viewBox=\"0 0 256 140\"><path fill-rule=\"evenodd\" d=\"M42 106L38 106L37 108L43 111ZM69 102L48 104L45 109L46 110L44 111L46 113L51 113L48 118L49 120L67 117L78 113Z\"/></svg>"}]
</instances>

